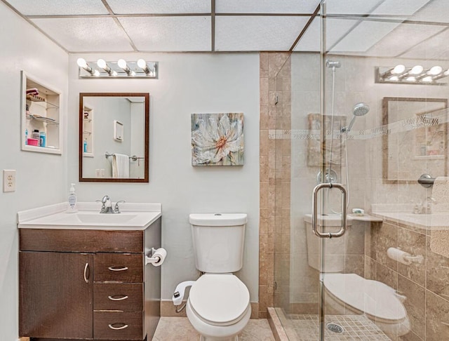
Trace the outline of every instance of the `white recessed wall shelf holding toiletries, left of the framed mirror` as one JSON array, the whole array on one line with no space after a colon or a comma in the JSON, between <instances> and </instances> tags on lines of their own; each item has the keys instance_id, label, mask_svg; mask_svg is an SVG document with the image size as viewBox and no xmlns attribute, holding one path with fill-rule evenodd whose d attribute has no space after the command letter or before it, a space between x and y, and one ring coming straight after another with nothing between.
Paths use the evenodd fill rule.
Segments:
<instances>
[{"instance_id":1,"label":"white recessed wall shelf holding toiletries, left of the framed mirror","mask_svg":"<svg viewBox=\"0 0 449 341\"><path fill-rule=\"evenodd\" d=\"M22 150L48 154L62 154L60 124L61 92L25 71L21 72L21 136ZM33 131L45 134L45 145L32 139Z\"/></svg>"}]
</instances>

